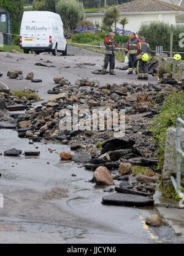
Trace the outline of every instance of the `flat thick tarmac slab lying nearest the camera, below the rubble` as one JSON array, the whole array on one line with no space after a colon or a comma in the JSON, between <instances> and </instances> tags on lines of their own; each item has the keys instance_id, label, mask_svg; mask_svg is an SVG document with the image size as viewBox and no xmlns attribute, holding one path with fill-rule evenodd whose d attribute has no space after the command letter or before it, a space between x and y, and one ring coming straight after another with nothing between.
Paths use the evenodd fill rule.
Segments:
<instances>
[{"instance_id":1,"label":"flat thick tarmac slab lying nearest the camera, below the rubble","mask_svg":"<svg viewBox=\"0 0 184 256\"><path fill-rule=\"evenodd\" d=\"M112 204L118 206L153 206L154 201L145 196L136 194L113 193L102 198L103 204Z\"/></svg>"}]
</instances>

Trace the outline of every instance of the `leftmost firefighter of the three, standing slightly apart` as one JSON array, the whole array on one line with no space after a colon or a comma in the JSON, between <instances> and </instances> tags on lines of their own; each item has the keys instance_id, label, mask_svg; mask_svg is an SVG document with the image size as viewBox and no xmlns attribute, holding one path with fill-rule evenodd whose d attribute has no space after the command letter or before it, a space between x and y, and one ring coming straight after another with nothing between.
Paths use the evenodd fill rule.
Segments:
<instances>
[{"instance_id":1,"label":"leftmost firefighter of the three, standing slightly apart","mask_svg":"<svg viewBox=\"0 0 184 256\"><path fill-rule=\"evenodd\" d=\"M108 38L105 38L104 44L105 44L105 59L104 59L104 66L102 69L102 73L106 74L107 66L110 63L110 70L109 74L115 75L113 73L114 67L115 67L115 54L116 54L116 48L117 44L114 41L115 34L110 32Z\"/></svg>"}]
</instances>

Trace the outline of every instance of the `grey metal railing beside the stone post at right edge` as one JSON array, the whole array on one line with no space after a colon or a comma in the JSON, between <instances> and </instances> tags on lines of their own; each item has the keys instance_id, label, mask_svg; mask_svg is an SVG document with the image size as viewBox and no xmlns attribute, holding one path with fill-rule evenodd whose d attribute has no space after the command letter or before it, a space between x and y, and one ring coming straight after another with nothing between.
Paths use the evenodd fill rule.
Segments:
<instances>
[{"instance_id":1,"label":"grey metal railing beside the stone post at right edge","mask_svg":"<svg viewBox=\"0 0 184 256\"><path fill-rule=\"evenodd\" d=\"M184 194L182 193L181 190L181 162L182 162L182 157L184 158L184 152L182 151L181 148L181 138L182 138L182 130L181 126L184 126L184 121L182 118L177 118L177 128L176 128L176 154L177 154L177 182L175 182L175 178L171 176L171 181L172 185L175 188L175 191L178 193L178 196L184 200Z\"/></svg>"}]
</instances>

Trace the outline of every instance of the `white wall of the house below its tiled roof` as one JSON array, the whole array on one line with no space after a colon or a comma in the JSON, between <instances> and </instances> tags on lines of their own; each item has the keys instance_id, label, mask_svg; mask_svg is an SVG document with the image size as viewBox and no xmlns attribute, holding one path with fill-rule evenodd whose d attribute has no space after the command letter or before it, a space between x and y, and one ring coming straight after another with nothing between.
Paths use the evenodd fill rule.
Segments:
<instances>
[{"instance_id":1,"label":"white wall of the house below its tiled roof","mask_svg":"<svg viewBox=\"0 0 184 256\"><path fill-rule=\"evenodd\" d=\"M103 15L94 15L94 16L86 16L86 20L90 20L91 22L102 24ZM150 23L152 21L158 22L159 20L163 22L167 22L169 24L175 25L175 14L130 14L130 15L120 15L120 20L126 17L128 19L128 24L125 25L125 30L130 30L134 33L139 31L140 25L142 23ZM118 28L122 28L120 23L117 23Z\"/></svg>"}]
</instances>

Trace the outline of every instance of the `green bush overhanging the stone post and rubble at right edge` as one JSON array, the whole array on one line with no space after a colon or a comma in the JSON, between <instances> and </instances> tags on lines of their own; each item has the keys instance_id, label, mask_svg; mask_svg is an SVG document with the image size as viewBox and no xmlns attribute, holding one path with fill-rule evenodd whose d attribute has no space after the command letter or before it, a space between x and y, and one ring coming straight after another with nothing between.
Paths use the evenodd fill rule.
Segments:
<instances>
[{"instance_id":1,"label":"green bush overhanging the stone post and rubble at right edge","mask_svg":"<svg viewBox=\"0 0 184 256\"><path fill-rule=\"evenodd\" d=\"M184 119L184 91L174 90L167 95L159 114L153 118L149 127L155 139L158 153L158 169L163 169L166 131L169 127L176 127L176 119Z\"/></svg>"}]
</instances>

